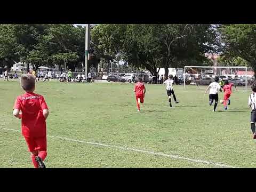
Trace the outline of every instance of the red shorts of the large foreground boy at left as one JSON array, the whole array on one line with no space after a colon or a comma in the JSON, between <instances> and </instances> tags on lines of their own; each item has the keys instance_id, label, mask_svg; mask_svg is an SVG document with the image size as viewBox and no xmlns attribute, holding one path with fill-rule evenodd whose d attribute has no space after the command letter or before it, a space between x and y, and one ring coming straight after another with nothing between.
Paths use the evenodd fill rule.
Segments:
<instances>
[{"instance_id":1,"label":"red shorts of the large foreground boy at left","mask_svg":"<svg viewBox=\"0 0 256 192\"><path fill-rule=\"evenodd\" d=\"M30 152L46 151L46 137L25 137Z\"/></svg>"}]
</instances>

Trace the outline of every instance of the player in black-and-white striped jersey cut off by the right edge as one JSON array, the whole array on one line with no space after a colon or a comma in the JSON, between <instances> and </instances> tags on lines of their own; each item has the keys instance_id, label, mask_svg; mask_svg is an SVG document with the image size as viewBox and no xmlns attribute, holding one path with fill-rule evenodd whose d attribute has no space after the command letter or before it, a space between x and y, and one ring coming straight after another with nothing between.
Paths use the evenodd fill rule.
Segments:
<instances>
[{"instance_id":1,"label":"player in black-and-white striped jersey cut off by the right edge","mask_svg":"<svg viewBox=\"0 0 256 192\"><path fill-rule=\"evenodd\" d=\"M253 139L256 139L255 123L256 123L256 84L252 85L252 94L248 99L249 107L251 107L251 129L253 133Z\"/></svg>"}]
</instances>

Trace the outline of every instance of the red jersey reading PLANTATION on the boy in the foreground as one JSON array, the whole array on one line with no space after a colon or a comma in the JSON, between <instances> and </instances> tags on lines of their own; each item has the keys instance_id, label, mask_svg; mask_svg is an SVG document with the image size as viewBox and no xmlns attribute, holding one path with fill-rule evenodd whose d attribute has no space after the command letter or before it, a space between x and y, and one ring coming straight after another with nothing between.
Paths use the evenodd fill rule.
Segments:
<instances>
[{"instance_id":1,"label":"red jersey reading PLANTATION on the boy in the foreground","mask_svg":"<svg viewBox=\"0 0 256 192\"><path fill-rule=\"evenodd\" d=\"M14 108L22 111L21 131L25 137L46 136L43 110L48 107L42 95L26 92L16 99Z\"/></svg>"}]
</instances>

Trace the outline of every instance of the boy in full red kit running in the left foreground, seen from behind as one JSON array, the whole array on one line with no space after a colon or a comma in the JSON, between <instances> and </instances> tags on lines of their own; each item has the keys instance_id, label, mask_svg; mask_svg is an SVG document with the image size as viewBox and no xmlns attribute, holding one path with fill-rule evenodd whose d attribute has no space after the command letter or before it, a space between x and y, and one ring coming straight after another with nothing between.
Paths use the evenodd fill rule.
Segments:
<instances>
[{"instance_id":1,"label":"boy in full red kit running in the left foreground, seen from behind","mask_svg":"<svg viewBox=\"0 0 256 192\"><path fill-rule=\"evenodd\" d=\"M35 77L21 76L21 87L25 94L18 96L13 108L13 115L21 119L21 132L25 138L35 168L45 168L46 119L49 110L42 95L34 93Z\"/></svg>"}]
</instances>

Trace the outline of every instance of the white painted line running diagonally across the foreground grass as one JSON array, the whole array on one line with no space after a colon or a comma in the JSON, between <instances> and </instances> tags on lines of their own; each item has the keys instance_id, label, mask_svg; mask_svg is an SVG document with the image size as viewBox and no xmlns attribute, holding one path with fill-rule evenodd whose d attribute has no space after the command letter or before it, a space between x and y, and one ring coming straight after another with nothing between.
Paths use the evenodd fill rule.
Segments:
<instances>
[{"instance_id":1,"label":"white painted line running diagonally across the foreground grass","mask_svg":"<svg viewBox=\"0 0 256 192\"><path fill-rule=\"evenodd\" d=\"M21 132L19 130L6 129L6 128L2 128L2 127L0 127L0 129L8 130L8 131ZM222 164L222 163L213 163L213 162L204 161L204 160L201 160L201 159L191 159L191 158L187 158L187 157L181 157L181 156L178 156L178 155L169 155L169 154L157 153L157 152L154 152L154 151L147 151L147 150L140 150L140 149L134 149L134 148L119 147L119 146L115 146L115 145L106 145L106 144L97 143L97 142L69 139L69 138L63 138L63 137L51 136L51 135L47 135L47 137L56 138L56 139L63 139L63 140L68 140L68 141L74 141L74 142L81 142L81 143L86 143L86 144L95 145L95 146L102 146L102 147L108 147L108 148L116 148L116 149L126 150L126 151L135 151L135 152L145 153L145 154L150 154L150 155L155 155L155 156L169 157L169 158L175 158L175 159L183 159L183 160L186 160L186 161L189 161L189 162L194 162L194 163L203 163L203 164L214 165L214 166L219 166L219 167L236 168L234 166L230 166L230 165L226 165L226 164Z\"/></svg>"}]
</instances>

